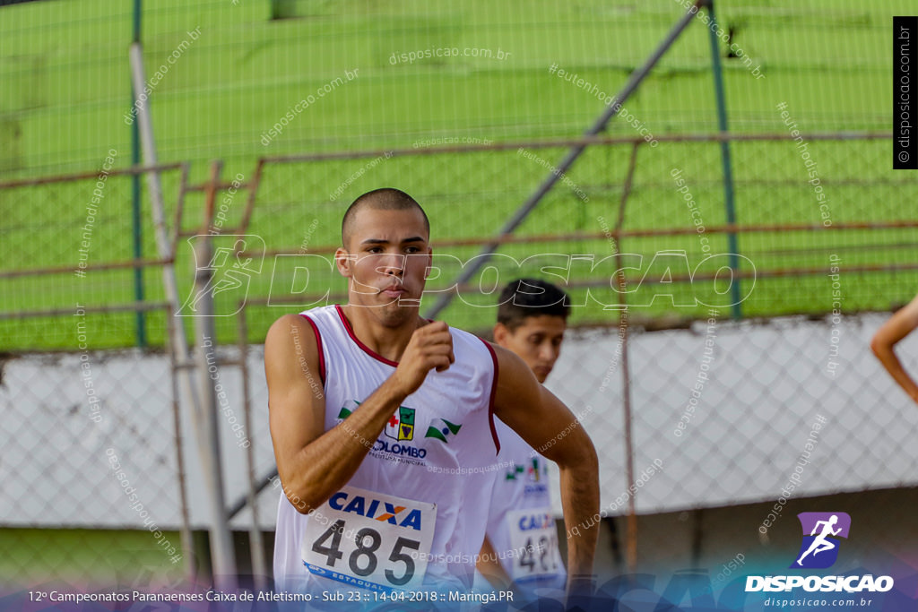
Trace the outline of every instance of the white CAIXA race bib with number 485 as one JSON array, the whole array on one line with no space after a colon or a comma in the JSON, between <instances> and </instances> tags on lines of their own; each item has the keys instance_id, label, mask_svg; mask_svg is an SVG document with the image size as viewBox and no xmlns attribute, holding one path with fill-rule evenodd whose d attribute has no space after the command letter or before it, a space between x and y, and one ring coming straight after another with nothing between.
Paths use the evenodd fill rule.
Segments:
<instances>
[{"instance_id":1,"label":"white CAIXA race bib with number 485","mask_svg":"<svg viewBox=\"0 0 918 612\"><path fill-rule=\"evenodd\" d=\"M420 586L437 505L345 486L309 516L303 564L310 573L376 591Z\"/></svg>"}]
</instances>

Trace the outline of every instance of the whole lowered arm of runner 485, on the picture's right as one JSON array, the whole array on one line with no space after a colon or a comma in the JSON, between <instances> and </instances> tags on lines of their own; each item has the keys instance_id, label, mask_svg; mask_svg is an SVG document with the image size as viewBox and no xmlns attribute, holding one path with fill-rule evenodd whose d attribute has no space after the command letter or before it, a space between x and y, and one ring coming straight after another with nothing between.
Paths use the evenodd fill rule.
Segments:
<instances>
[{"instance_id":1,"label":"whole lowered arm of runner 485, on the picture's right","mask_svg":"<svg viewBox=\"0 0 918 612\"><path fill-rule=\"evenodd\" d=\"M570 577L589 575L599 536L599 521L591 520L599 513L596 449L577 418L536 381L519 357L498 346L494 351L498 355L495 414L533 449L558 464L568 536L567 573Z\"/></svg>"}]
</instances>

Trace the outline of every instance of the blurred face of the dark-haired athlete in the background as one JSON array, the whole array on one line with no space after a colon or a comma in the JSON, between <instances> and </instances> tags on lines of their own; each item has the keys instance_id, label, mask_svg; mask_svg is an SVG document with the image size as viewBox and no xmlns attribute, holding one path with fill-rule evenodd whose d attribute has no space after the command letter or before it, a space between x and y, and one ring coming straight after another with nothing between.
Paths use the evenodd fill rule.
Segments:
<instances>
[{"instance_id":1,"label":"blurred face of the dark-haired athlete in the background","mask_svg":"<svg viewBox=\"0 0 918 612\"><path fill-rule=\"evenodd\" d=\"M526 317L522 325L512 331L498 323L494 326L494 341L519 355L539 382L544 383L561 354L566 328L565 317Z\"/></svg>"}]
</instances>

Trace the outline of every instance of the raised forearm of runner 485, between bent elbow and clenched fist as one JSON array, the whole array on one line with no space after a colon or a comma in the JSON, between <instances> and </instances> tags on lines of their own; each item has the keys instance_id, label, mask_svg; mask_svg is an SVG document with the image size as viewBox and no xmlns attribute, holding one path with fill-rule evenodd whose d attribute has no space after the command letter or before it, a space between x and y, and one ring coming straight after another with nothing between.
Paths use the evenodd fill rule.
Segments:
<instances>
[{"instance_id":1,"label":"raised forearm of runner 485, between bent elbow and clenched fist","mask_svg":"<svg viewBox=\"0 0 918 612\"><path fill-rule=\"evenodd\" d=\"M288 475L291 482L284 483L284 490L299 512L305 514L321 506L351 480L406 396L400 385L389 378L341 424L297 453L291 469L286 471L292 476Z\"/></svg>"}]
</instances>

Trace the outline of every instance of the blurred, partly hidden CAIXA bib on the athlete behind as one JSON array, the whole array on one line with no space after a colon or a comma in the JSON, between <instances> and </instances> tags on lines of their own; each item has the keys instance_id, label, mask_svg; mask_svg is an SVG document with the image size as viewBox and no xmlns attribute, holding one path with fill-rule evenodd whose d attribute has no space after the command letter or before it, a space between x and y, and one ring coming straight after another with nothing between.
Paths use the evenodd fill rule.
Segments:
<instances>
[{"instance_id":1,"label":"blurred, partly hidden CAIXA bib on the athlete behind","mask_svg":"<svg viewBox=\"0 0 918 612\"><path fill-rule=\"evenodd\" d=\"M564 573L551 508L509 512L507 523L513 551L510 577L514 581L527 582L545 574Z\"/></svg>"}]
</instances>

